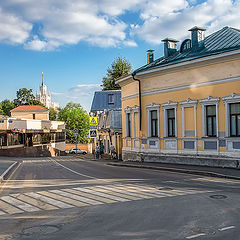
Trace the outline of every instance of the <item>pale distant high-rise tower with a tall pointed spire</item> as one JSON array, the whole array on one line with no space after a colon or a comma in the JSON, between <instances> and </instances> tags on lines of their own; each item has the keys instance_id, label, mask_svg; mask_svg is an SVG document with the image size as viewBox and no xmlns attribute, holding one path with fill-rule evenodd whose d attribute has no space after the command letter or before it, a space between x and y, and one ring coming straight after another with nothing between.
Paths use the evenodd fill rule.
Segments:
<instances>
[{"instance_id":1,"label":"pale distant high-rise tower with a tall pointed spire","mask_svg":"<svg viewBox=\"0 0 240 240\"><path fill-rule=\"evenodd\" d=\"M44 84L44 80L43 80L43 73L42 73L42 84L40 86L40 92L37 93L36 99L40 101L48 109L53 108L54 110L57 110L59 108L59 104L56 102L52 102L51 94L47 92L47 86Z\"/></svg>"}]
</instances>

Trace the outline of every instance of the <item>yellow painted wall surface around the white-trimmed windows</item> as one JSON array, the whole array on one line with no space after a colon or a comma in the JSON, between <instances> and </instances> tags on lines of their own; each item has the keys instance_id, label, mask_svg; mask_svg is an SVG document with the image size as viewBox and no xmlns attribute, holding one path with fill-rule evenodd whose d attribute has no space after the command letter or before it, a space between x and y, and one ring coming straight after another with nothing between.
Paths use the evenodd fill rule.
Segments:
<instances>
[{"instance_id":1,"label":"yellow painted wall surface around the white-trimmed windows","mask_svg":"<svg viewBox=\"0 0 240 240\"><path fill-rule=\"evenodd\" d=\"M240 56L238 56L240 58ZM225 106L222 101L222 97L228 96L232 93L240 94L240 80L232 79L222 83L212 84L210 81L221 80L225 78L240 77L240 60L234 60L229 62L209 64L208 66L199 66L194 69L185 69L178 72L169 71L168 74L161 74L157 76L145 76L144 78L138 76L141 79L142 87L142 131L140 132L141 138L148 137L148 118L146 106L155 103L163 104L170 101L178 102L177 106L177 137L182 136L182 110L180 101L184 101L187 98L192 100L200 100L212 96L214 98L220 98L218 105L218 132L225 131ZM198 83L205 83L202 86L196 86ZM177 87L183 87L177 89ZM131 82L122 87L122 112L123 112L123 138L126 136L126 118L125 108L139 106L138 100L138 83ZM175 89L173 89L175 88ZM152 91L163 90L160 93ZM146 93L148 95L146 95ZM136 115L137 116L137 115ZM194 108L185 107L185 131L195 130L194 120ZM136 132L135 136L138 137L138 121L135 119ZM202 107L197 103L196 108L196 125L197 125L197 137L203 136L202 130ZM160 138L164 137L164 111L162 107L159 110L159 126L160 126ZM133 129L133 128L132 128ZM133 137L133 133L132 133ZM124 147L126 147L126 141L123 141ZM178 149L183 148L182 140L178 140ZM160 148L164 149L164 141L161 140ZM203 150L203 141L198 140L197 149ZM220 147L220 151L226 151L226 147Z\"/></svg>"}]
</instances>

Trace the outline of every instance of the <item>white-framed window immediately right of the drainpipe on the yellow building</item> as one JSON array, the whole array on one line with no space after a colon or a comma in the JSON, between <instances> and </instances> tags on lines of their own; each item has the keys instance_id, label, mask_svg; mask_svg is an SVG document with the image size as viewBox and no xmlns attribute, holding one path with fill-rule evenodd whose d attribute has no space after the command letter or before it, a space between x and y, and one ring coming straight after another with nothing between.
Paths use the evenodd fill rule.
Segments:
<instances>
[{"instance_id":1,"label":"white-framed window immediately right of the drainpipe on the yellow building","mask_svg":"<svg viewBox=\"0 0 240 240\"><path fill-rule=\"evenodd\" d=\"M159 137L159 104L146 106L148 112L148 137Z\"/></svg>"}]
</instances>

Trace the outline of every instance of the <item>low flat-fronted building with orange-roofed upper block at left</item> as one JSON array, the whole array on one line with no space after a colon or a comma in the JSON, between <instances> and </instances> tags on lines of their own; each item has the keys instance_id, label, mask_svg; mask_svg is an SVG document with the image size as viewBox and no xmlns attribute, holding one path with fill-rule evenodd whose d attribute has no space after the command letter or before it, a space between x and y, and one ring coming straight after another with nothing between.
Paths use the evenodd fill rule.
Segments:
<instances>
[{"instance_id":1,"label":"low flat-fronted building with orange-roofed upper block at left","mask_svg":"<svg viewBox=\"0 0 240 240\"><path fill-rule=\"evenodd\" d=\"M65 151L65 122L50 121L48 109L19 106L0 115L0 156L55 156Z\"/></svg>"}]
</instances>

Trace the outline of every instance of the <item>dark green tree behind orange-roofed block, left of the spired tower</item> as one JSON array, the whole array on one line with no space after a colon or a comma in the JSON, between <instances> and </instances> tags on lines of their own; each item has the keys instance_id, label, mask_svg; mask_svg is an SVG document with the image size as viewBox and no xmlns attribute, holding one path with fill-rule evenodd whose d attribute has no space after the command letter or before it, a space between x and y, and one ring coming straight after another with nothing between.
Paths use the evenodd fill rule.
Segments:
<instances>
[{"instance_id":1,"label":"dark green tree behind orange-roofed block, left of the spired tower","mask_svg":"<svg viewBox=\"0 0 240 240\"><path fill-rule=\"evenodd\" d=\"M36 100L34 94L32 93L32 89L27 89L27 88L20 88L17 91L17 98L14 99L14 104L16 106L21 106L21 105L41 105L43 104Z\"/></svg>"}]
</instances>

